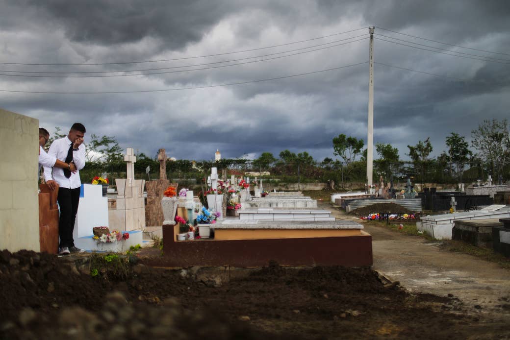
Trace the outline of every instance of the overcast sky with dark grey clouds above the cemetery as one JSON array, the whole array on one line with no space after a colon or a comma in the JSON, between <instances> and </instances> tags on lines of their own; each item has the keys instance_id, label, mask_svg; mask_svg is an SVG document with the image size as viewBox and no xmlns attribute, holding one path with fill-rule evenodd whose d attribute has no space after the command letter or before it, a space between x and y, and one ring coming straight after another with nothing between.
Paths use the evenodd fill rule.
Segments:
<instances>
[{"instance_id":1,"label":"overcast sky with dark grey clouds above the cemetery","mask_svg":"<svg viewBox=\"0 0 510 340\"><path fill-rule=\"evenodd\" d=\"M150 156L322 161L339 134L366 143L372 25L374 143L408 159L430 137L438 155L451 132L510 117L507 0L0 0L0 13L0 108Z\"/></svg>"}]
</instances>

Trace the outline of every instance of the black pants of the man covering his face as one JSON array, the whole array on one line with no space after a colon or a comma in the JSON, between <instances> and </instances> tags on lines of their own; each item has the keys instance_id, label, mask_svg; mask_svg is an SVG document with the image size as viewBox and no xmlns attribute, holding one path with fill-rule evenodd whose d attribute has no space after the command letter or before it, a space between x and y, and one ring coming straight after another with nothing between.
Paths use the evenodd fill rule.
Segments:
<instances>
[{"instance_id":1,"label":"black pants of the man covering his face","mask_svg":"<svg viewBox=\"0 0 510 340\"><path fill-rule=\"evenodd\" d=\"M60 206L59 237L60 247L73 247L72 231L80 202L80 188L59 188L57 201Z\"/></svg>"}]
</instances>

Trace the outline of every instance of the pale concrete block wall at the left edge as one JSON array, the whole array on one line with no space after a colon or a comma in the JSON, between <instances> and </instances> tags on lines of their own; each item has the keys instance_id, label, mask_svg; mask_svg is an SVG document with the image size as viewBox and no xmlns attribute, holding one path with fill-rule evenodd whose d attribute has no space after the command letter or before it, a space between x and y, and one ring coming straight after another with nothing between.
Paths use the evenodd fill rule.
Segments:
<instances>
[{"instance_id":1,"label":"pale concrete block wall at the left edge","mask_svg":"<svg viewBox=\"0 0 510 340\"><path fill-rule=\"evenodd\" d=\"M0 109L0 249L39 251L39 120Z\"/></svg>"}]
</instances>

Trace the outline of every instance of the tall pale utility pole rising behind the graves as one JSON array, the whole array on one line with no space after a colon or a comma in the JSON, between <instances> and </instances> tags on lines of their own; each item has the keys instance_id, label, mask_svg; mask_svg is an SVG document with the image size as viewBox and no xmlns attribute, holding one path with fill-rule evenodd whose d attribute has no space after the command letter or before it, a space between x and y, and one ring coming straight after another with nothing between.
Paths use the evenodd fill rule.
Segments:
<instances>
[{"instance_id":1,"label":"tall pale utility pole rising behind the graves","mask_svg":"<svg viewBox=\"0 0 510 340\"><path fill-rule=\"evenodd\" d=\"M369 59L369 81L368 81L368 133L367 133L367 181L368 188L372 185L372 169L374 158L374 27L370 27L370 59Z\"/></svg>"}]
</instances>

